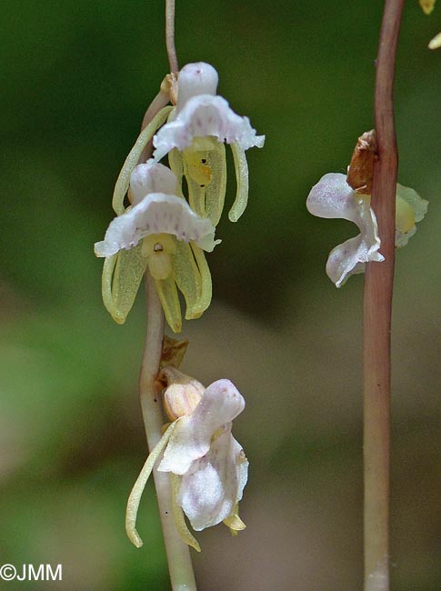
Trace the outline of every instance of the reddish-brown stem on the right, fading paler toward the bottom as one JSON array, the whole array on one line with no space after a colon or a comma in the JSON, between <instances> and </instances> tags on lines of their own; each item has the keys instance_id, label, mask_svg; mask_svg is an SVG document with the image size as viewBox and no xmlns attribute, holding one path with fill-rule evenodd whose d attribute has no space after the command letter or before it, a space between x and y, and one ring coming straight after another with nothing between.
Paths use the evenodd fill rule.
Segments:
<instances>
[{"instance_id":1,"label":"reddish-brown stem on the right, fading paler toward the bottom","mask_svg":"<svg viewBox=\"0 0 441 591\"><path fill-rule=\"evenodd\" d=\"M365 591L389 589L390 331L395 264L396 172L393 84L404 0L386 0L376 61L372 207L380 265L368 263L364 305Z\"/></svg>"}]
</instances>

